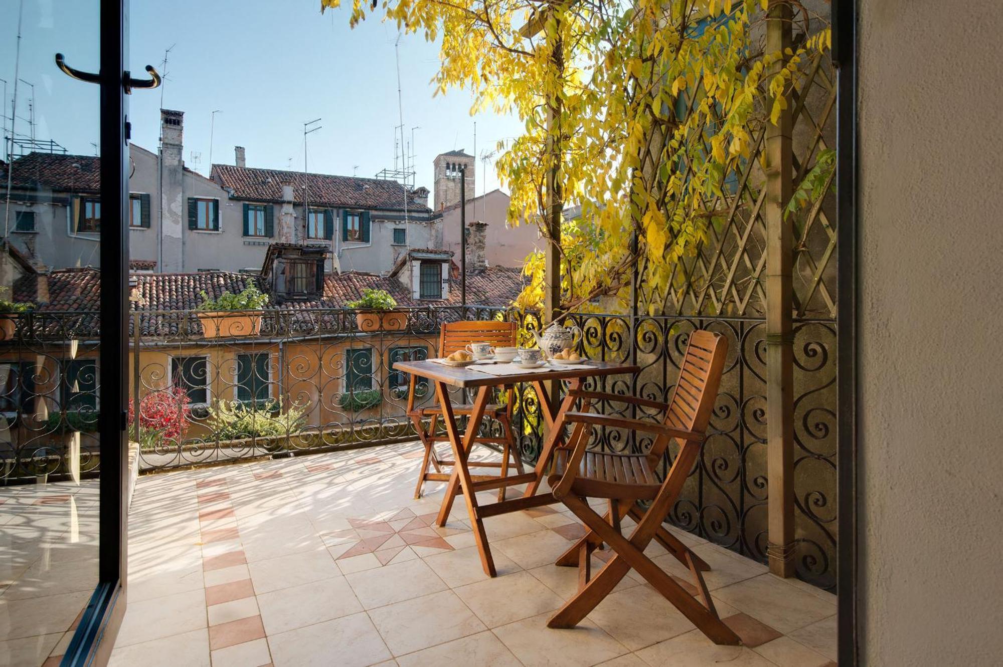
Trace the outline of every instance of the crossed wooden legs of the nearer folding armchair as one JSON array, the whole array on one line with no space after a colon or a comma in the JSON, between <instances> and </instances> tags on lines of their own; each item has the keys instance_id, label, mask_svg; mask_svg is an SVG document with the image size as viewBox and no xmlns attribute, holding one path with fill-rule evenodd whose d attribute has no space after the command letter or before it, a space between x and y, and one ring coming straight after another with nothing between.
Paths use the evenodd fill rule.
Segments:
<instances>
[{"instance_id":1,"label":"crossed wooden legs of the nearer folding armchair","mask_svg":"<svg viewBox=\"0 0 1003 667\"><path fill-rule=\"evenodd\" d=\"M658 527L653 523L658 521L654 516L643 518L628 540L590 508L587 502L574 495L568 495L562 500L613 548L616 555L578 595L551 618L547 623L548 627L571 628L578 625L633 568L715 644L737 646L741 643L738 635L721 621L715 611L697 602L644 555L644 549Z\"/></svg>"}]
</instances>

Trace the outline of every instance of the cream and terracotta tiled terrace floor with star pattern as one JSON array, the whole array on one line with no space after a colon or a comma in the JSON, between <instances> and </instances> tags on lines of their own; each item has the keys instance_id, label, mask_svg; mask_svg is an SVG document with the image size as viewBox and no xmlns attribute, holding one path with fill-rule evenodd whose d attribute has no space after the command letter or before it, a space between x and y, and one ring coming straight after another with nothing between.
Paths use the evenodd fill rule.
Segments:
<instances>
[{"instance_id":1,"label":"cream and terracotta tiled terrace floor with star pattern","mask_svg":"<svg viewBox=\"0 0 1003 667\"><path fill-rule=\"evenodd\" d=\"M419 453L412 443L140 478L111 664L834 664L834 596L685 533L745 646L714 646L633 571L578 628L548 629L578 578L553 563L582 527L561 505L487 519L498 570L487 579L462 502L440 529L444 485L412 498ZM686 576L657 545L649 553Z\"/></svg>"}]
</instances>

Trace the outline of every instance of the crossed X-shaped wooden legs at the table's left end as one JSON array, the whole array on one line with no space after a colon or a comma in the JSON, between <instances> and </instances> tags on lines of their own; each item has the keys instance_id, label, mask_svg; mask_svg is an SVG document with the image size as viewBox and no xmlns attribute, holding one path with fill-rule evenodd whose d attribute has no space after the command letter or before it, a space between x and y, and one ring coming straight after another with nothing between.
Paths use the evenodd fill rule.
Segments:
<instances>
[{"instance_id":1,"label":"crossed X-shaped wooden legs at the table's left end","mask_svg":"<svg viewBox=\"0 0 1003 667\"><path fill-rule=\"evenodd\" d=\"M449 444L452 446L452 455L455 461L452 475L449 477L449 484L446 486L445 497L442 499L442 507L439 509L438 525L444 526L448 520L458 486L463 491L466 512L470 516L470 528L473 530L473 539L477 544L477 551L480 553L480 565L483 566L484 573L488 577L493 577L495 576L494 561L491 558L490 547L487 545L487 533L484 531L483 519L477 512L477 496L473 490L473 482L470 480L469 468L466 465L467 457L473 448L473 441L480 429L480 420L487 407L487 387L481 387L477 390L477 396L473 400L473 406L470 410L470 419L466 424L466 432L463 434L463 441L460 442L459 432L456 430L456 420L452 414L452 404L449 403L449 392L444 383L435 383L435 393L442 406L442 421L445 425L446 435L449 437Z\"/></svg>"}]
</instances>

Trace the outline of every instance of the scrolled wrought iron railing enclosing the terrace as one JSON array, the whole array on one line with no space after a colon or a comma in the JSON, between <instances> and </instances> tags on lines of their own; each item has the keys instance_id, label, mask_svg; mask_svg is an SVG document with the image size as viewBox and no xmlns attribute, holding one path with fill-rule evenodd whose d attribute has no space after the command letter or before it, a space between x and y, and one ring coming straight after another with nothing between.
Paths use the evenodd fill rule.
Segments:
<instances>
[{"instance_id":1,"label":"scrolled wrought iron railing enclosing the terrace","mask_svg":"<svg viewBox=\"0 0 1003 667\"><path fill-rule=\"evenodd\" d=\"M268 310L257 335L207 339L193 311L138 311L130 321L130 438L145 470L283 457L414 439L407 378L395 361L432 356L441 324L511 318L523 343L533 314L476 306L406 308L399 330L362 331L356 312ZM728 339L729 358L703 449L670 521L759 561L766 560L766 373L761 318L576 313L579 352L631 362L636 377L595 381L598 389L666 400L687 336L709 328ZM0 343L0 469L4 483L43 475L93 474L100 396L96 313L26 313ZM0 324L3 322L0 321ZM224 327L220 327L224 328ZM834 323L795 327L794 437L798 574L834 584ZM418 405L430 405L418 385ZM517 387L514 428L522 456L535 460L542 423L535 392ZM138 407L138 408L136 408ZM624 404L597 406L630 415ZM138 417L138 420L136 419ZM491 428L491 427L487 427ZM597 431L592 447L643 451L645 436ZM670 454L671 456L671 454Z\"/></svg>"}]
</instances>

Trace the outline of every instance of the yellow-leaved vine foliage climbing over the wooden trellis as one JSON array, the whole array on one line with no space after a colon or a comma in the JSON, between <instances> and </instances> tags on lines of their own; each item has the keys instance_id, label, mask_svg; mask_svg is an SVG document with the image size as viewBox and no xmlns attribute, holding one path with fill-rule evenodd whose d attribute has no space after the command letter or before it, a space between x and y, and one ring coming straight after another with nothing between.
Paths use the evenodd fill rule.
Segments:
<instances>
[{"instance_id":1,"label":"yellow-leaved vine foliage climbing over the wooden trellis","mask_svg":"<svg viewBox=\"0 0 1003 667\"><path fill-rule=\"evenodd\" d=\"M498 146L510 223L543 219L546 175L559 160L562 199L582 211L562 228L563 309L623 297L636 265L641 301L654 312L673 264L723 216L728 183L764 123L776 122L800 68L830 47L828 29L808 36L804 10L788 3L797 48L766 52L768 4L353 0L350 21L377 13L441 39L437 92L466 89L471 113L523 119L523 135ZM321 0L322 9L340 5ZM518 305L541 303L543 266L541 255L527 258Z\"/></svg>"}]
</instances>

